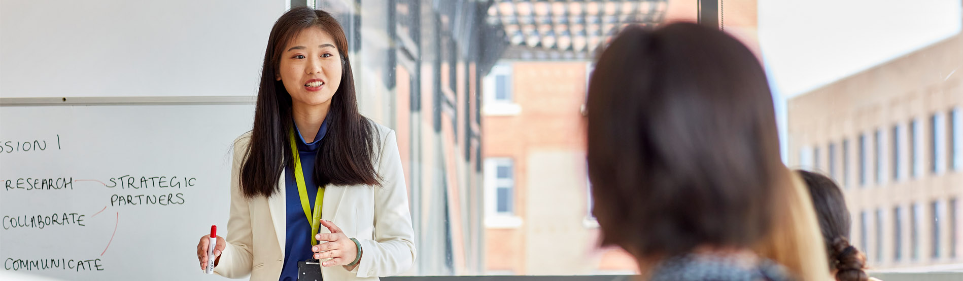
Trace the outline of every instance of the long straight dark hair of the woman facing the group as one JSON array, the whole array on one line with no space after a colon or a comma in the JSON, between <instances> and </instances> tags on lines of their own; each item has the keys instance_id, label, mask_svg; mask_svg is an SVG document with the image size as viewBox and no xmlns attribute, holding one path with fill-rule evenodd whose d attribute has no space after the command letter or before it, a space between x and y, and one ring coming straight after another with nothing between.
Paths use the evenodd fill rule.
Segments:
<instances>
[{"instance_id":1,"label":"long straight dark hair of the woman facing the group","mask_svg":"<svg viewBox=\"0 0 963 281\"><path fill-rule=\"evenodd\" d=\"M341 84L331 97L326 117L328 133L320 140L321 150L315 158L315 183L320 186L380 185L372 161L376 129L371 120L358 113L345 32L331 14L299 7L281 15L274 22L268 38L254 110L254 128L245 153L246 160L241 166L241 191L248 198L271 196L277 192L280 189L277 179L284 166L293 161L288 142L288 134L294 130L291 94L274 78L278 75L284 45L311 27L319 27L334 38L342 61Z\"/></svg>"}]
</instances>

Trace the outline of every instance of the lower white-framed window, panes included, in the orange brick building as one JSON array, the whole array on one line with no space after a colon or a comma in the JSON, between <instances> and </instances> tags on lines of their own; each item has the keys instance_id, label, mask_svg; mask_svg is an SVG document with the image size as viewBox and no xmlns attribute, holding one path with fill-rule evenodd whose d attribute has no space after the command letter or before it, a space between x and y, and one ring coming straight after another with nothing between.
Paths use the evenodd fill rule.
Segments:
<instances>
[{"instance_id":1,"label":"lower white-framed window, panes included, in the orange brick building","mask_svg":"<svg viewBox=\"0 0 963 281\"><path fill-rule=\"evenodd\" d=\"M488 158L484 166L485 225L517 227L515 217L515 172L511 158Z\"/></svg>"}]
</instances>

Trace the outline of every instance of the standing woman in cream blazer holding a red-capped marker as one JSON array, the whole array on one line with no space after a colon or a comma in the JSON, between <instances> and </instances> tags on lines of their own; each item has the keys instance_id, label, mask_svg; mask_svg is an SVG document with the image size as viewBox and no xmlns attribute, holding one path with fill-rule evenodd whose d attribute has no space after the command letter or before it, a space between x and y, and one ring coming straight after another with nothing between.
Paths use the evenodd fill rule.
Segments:
<instances>
[{"instance_id":1,"label":"standing woman in cream blazer holding a red-capped marker","mask_svg":"<svg viewBox=\"0 0 963 281\"><path fill-rule=\"evenodd\" d=\"M394 131L360 115L348 40L328 13L294 8L274 23L254 128L234 142L226 240L200 268L229 278L377 280L415 259ZM317 267L317 266L316 266Z\"/></svg>"}]
</instances>

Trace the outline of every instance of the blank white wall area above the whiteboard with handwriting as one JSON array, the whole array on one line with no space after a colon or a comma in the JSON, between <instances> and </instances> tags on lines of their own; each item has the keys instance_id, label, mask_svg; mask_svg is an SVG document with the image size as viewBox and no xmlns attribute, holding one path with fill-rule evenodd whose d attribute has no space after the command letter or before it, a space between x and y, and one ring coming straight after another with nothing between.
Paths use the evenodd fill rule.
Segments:
<instances>
[{"instance_id":1,"label":"blank white wall area above the whiteboard with handwriting","mask_svg":"<svg viewBox=\"0 0 963 281\"><path fill-rule=\"evenodd\" d=\"M2 1L0 97L253 95L285 2Z\"/></svg>"}]
</instances>

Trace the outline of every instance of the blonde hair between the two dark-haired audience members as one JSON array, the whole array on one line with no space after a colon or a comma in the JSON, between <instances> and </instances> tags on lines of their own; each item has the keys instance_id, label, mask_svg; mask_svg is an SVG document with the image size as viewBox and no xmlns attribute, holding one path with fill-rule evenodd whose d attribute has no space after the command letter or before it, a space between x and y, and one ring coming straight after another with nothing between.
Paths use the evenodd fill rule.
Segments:
<instances>
[{"instance_id":1,"label":"blonde hair between the two dark-haired audience members","mask_svg":"<svg viewBox=\"0 0 963 281\"><path fill-rule=\"evenodd\" d=\"M834 280L826 260L819 220L805 183L788 168L789 184L773 194L772 224L756 252L779 263L799 280Z\"/></svg>"}]
</instances>

